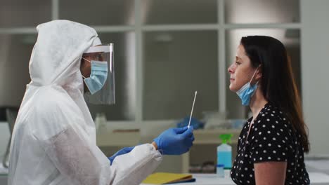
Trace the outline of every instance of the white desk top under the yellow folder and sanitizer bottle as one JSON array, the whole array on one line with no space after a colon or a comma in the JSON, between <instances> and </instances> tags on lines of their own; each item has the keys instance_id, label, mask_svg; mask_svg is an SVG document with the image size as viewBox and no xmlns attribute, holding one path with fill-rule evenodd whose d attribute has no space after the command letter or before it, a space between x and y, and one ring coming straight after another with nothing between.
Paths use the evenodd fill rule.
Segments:
<instances>
[{"instance_id":1,"label":"white desk top under the yellow folder and sanitizer bottle","mask_svg":"<svg viewBox=\"0 0 329 185\"><path fill-rule=\"evenodd\" d=\"M219 178L216 174L193 174L196 179L195 182L191 183L177 183L175 185L233 185L234 182L231 177ZM309 178L311 179L311 184L314 185L329 185L329 175L320 172L310 172ZM141 184L146 185L146 184Z\"/></svg>"}]
</instances>

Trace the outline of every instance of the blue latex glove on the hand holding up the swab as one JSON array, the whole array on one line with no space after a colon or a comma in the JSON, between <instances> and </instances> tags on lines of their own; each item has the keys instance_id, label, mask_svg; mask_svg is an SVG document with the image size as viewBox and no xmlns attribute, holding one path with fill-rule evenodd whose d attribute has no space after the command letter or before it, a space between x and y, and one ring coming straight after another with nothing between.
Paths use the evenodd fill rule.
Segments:
<instances>
[{"instance_id":1,"label":"blue latex glove on the hand holding up the swab","mask_svg":"<svg viewBox=\"0 0 329 185\"><path fill-rule=\"evenodd\" d=\"M193 127L169 128L153 140L157 150L165 155L181 155L193 145Z\"/></svg>"}]
</instances>

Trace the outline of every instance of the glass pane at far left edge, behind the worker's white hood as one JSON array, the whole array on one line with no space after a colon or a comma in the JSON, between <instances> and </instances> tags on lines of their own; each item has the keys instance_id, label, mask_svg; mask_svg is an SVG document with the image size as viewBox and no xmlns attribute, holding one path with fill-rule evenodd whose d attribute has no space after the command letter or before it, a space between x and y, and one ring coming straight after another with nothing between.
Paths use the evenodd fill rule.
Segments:
<instances>
[{"instance_id":1,"label":"glass pane at far left edge, behind the worker's white hood","mask_svg":"<svg viewBox=\"0 0 329 185\"><path fill-rule=\"evenodd\" d=\"M31 81L29 62L36 40L35 34L0 34L0 107L20 106Z\"/></svg>"}]
</instances>

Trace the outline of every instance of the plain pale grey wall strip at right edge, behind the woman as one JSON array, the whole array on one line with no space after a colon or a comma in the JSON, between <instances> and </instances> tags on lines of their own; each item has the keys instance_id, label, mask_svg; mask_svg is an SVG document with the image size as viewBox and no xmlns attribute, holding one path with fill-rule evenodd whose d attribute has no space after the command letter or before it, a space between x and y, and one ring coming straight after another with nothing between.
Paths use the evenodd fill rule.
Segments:
<instances>
[{"instance_id":1,"label":"plain pale grey wall strip at right edge, behind the woman","mask_svg":"<svg viewBox=\"0 0 329 185\"><path fill-rule=\"evenodd\" d=\"M310 154L329 156L329 1L301 2L302 95Z\"/></svg>"}]
</instances>

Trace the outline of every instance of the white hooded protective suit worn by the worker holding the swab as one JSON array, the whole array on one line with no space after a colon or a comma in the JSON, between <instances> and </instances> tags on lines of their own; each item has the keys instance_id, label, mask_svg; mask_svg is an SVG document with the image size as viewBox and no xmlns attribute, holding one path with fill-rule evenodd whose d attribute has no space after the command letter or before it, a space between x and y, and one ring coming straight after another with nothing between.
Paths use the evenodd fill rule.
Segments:
<instances>
[{"instance_id":1,"label":"white hooded protective suit worn by the worker holding the swab","mask_svg":"<svg viewBox=\"0 0 329 185\"><path fill-rule=\"evenodd\" d=\"M79 69L84 50L101 43L96 31L67 20L37 30L32 81L11 140L8 184L140 184L162 160L152 144L136 146L112 165L96 146Z\"/></svg>"}]
</instances>

